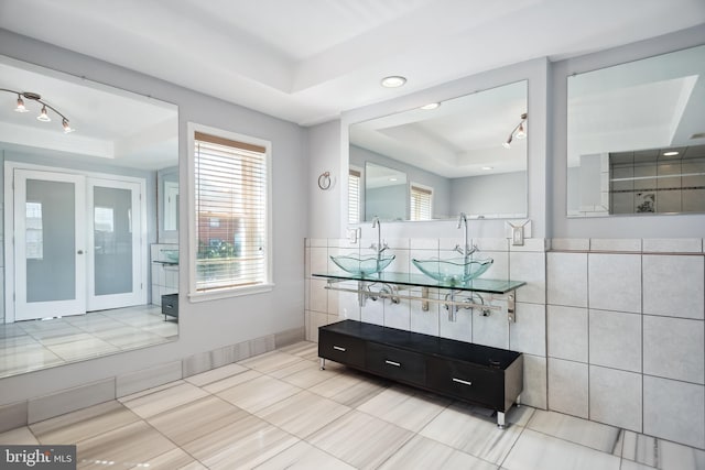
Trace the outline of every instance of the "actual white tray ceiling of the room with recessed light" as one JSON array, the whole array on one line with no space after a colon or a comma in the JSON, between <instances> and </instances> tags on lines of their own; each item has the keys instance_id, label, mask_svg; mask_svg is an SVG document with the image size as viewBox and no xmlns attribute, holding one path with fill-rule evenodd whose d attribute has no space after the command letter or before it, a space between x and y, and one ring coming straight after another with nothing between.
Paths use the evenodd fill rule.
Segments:
<instances>
[{"instance_id":1,"label":"actual white tray ceiling of the room with recessed light","mask_svg":"<svg viewBox=\"0 0 705 470\"><path fill-rule=\"evenodd\" d=\"M0 28L303 125L702 23L703 0L0 0Z\"/></svg>"}]
</instances>

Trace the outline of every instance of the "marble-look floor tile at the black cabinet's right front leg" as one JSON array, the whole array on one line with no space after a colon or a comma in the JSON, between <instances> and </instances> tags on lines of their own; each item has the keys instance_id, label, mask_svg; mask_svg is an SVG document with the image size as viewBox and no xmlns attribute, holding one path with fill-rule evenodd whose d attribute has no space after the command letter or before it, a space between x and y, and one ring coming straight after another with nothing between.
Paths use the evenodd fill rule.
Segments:
<instances>
[{"instance_id":1,"label":"marble-look floor tile at the black cabinet's right front leg","mask_svg":"<svg viewBox=\"0 0 705 470\"><path fill-rule=\"evenodd\" d=\"M514 424L500 429L494 419L471 415L454 404L441 412L419 434L482 460L500 463L522 430L523 427Z\"/></svg>"}]
</instances>

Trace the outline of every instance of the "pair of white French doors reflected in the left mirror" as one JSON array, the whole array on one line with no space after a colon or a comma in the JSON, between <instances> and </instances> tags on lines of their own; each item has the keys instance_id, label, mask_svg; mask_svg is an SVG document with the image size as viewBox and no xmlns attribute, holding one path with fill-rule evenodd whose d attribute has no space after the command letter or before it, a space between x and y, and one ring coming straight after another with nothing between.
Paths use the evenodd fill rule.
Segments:
<instances>
[{"instance_id":1,"label":"pair of white French doors reflected in the left mirror","mask_svg":"<svg viewBox=\"0 0 705 470\"><path fill-rule=\"evenodd\" d=\"M14 168L14 320L147 302L141 184Z\"/></svg>"}]
</instances>

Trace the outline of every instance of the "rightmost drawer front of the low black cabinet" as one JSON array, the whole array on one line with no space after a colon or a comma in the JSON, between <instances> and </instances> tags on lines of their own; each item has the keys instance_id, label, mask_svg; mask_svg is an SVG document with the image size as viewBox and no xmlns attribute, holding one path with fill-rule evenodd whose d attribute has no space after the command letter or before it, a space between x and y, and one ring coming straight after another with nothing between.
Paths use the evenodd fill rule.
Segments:
<instances>
[{"instance_id":1,"label":"rightmost drawer front of the low black cabinet","mask_svg":"<svg viewBox=\"0 0 705 470\"><path fill-rule=\"evenodd\" d=\"M427 358L426 369L429 387L503 409L503 371L438 358Z\"/></svg>"}]
</instances>

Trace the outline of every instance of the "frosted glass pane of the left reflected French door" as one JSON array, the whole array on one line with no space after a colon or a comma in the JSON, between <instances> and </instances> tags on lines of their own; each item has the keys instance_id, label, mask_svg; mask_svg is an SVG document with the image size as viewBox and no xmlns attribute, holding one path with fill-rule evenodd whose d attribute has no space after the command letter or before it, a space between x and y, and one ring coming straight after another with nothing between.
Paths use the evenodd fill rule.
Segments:
<instances>
[{"instance_id":1,"label":"frosted glass pane of the left reflected French door","mask_svg":"<svg viewBox=\"0 0 705 470\"><path fill-rule=\"evenodd\" d=\"M26 302L76 298L76 188L26 181Z\"/></svg>"}]
</instances>

